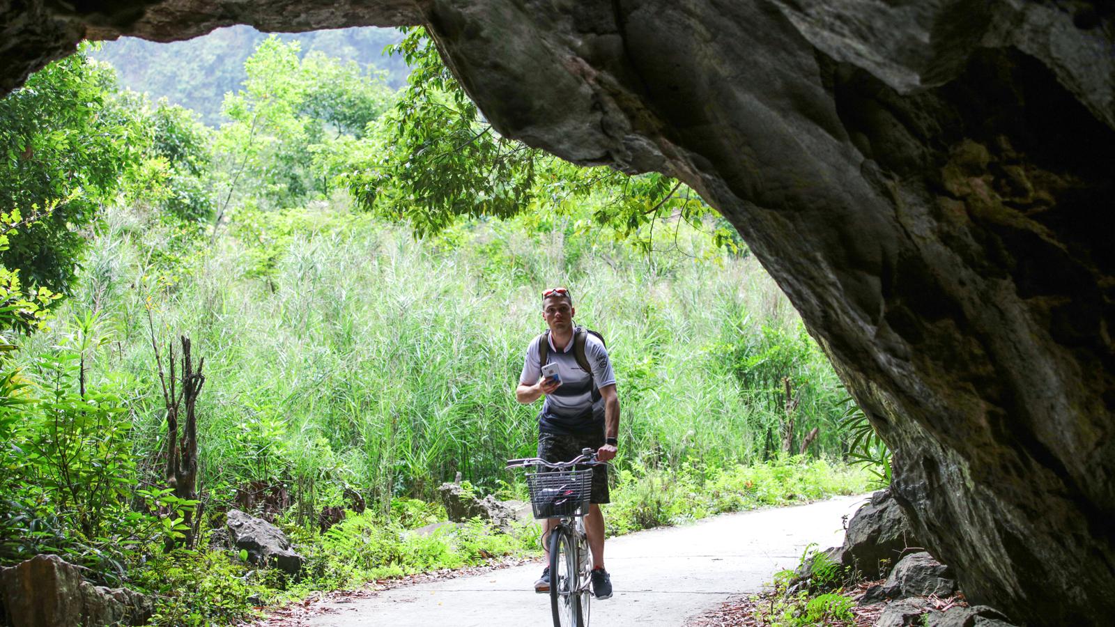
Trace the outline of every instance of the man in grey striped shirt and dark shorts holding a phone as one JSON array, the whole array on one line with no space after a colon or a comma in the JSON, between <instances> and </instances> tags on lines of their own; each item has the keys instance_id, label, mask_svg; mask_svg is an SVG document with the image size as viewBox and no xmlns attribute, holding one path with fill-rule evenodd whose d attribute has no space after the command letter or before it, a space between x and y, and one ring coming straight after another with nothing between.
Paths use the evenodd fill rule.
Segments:
<instances>
[{"instance_id":1,"label":"man in grey striped shirt and dark shorts holding a phone","mask_svg":"<svg viewBox=\"0 0 1115 627\"><path fill-rule=\"evenodd\" d=\"M553 288L542 293L542 319L550 328L526 349L515 398L525 405L546 397L539 414L539 457L564 462L588 447L595 448L597 459L607 462L615 456L620 426L615 376L603 340L588 329L574 327L574 314L576 309L568 289ZM553 376L543 377L543 367ZM598 599L608 599L612 596L612 583L604 570L604 517L600 511L600 505L609 502L604 464L593 466L590 502L584 524L595 566L592 591ZM553 519L545 521L543 538L553 524ZM550 591L549 567L534 582L534 590Z\"/></svg>"}]
</instances>

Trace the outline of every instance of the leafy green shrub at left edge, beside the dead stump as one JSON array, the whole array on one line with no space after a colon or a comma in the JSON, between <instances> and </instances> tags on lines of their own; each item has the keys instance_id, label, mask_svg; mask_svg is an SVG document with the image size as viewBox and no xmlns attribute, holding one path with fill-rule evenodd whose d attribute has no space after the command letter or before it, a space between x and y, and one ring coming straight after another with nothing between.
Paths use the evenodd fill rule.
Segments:
<instances>
[{"instance_id":1,"label":"leafy green shrub at left edge, beside the dead stump","mask_svg":"<svg viewBox=\"0 0 1115 627\"><path fill-rule=\"evenodd\" d=\"M91 324L86 319L85 329ZM193 503L138 485L119 384L87 386L87 350L96 347L83 337L75 332L21 370L12 407L20 419L0 450L0 561L59 553L116 583L136 556L181 537L182 513Z\"/></svg>"}]
</instances>

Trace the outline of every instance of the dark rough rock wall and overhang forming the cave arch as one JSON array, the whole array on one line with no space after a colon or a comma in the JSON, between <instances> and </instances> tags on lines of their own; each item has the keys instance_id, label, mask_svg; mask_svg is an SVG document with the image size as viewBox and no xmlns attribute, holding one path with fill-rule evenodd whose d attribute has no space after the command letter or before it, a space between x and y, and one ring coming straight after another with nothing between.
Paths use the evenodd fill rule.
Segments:
<instances>
[{"instance_id":1,"label":"dark rough rock wall and overhang forming the cave arch","mask_svg":"<svg viewBox=\"0 0 1115 627\"><path fill-rule=\"evenodd\" d=\"M679 176L724 212L896 448L895 494L972 600L1098 625L1115 611L1113 12L171 0L36 22L0 89L75 23L168 39L426 21L504 134Z\"/></svg>"}]
</instances>

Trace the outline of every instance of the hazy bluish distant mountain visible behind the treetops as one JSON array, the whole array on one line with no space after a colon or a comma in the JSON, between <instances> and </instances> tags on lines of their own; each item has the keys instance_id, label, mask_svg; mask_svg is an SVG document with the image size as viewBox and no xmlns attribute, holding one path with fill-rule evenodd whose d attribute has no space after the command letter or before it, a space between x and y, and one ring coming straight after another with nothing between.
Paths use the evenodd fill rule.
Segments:
<instances>
[{"instance_id":1,"label":"hazy bluish distant mountain visible behind the treetops","mask_svg":"<svg viewBox=\"0 0 1115 627\"><path fill-rule=\"evenodd\" d=\"M146 91L152 98L166 96L172 103L194 109L202 120L217 126L221 103L227 91L235 91L244 80L244 60L270 33L250 26L221 28L213 32L172 44L157 44L134 37L106 41L90 55L112 64L124 87ZM387 71L388 83L406 83L407 66L399 57L387 57L384 47L403 39L394 28L342 28L311 32L280 33L284 41L299 40L302 54L321 50L330 57L353 60Z\"/></svg>"}]
</instances>

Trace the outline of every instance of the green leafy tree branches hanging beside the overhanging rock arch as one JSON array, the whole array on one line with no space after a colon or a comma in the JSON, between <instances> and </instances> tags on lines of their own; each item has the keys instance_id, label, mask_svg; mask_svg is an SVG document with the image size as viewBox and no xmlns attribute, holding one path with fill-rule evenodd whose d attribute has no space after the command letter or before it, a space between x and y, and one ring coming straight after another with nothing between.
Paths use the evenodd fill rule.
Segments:
<instances>
[{"instance_id":1,"label":"green leafy tree branches hanging beside the overhanging rock arch","mask_svg":"<svg viewBox=\"0 0 1115 627\"><path fill-rule=\"evenodd\" d=\"M507 218L524 211L574 213L613 229L648 252L658 220L700 225L711 210L680 182L661 174L628 176L581 167L501 136L442 61L421 28L389 48L410 67L398 104L352 149L342 175L358 206L409 220L436 233L458 216ZM712 228L718 245L736 249L735 231Z\"/></svg>"}]
</instances>

